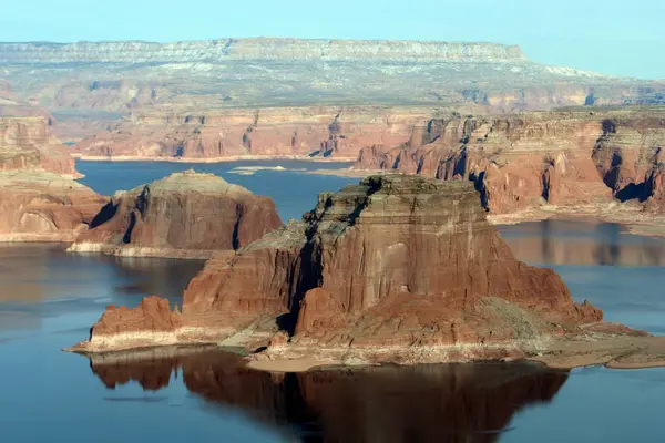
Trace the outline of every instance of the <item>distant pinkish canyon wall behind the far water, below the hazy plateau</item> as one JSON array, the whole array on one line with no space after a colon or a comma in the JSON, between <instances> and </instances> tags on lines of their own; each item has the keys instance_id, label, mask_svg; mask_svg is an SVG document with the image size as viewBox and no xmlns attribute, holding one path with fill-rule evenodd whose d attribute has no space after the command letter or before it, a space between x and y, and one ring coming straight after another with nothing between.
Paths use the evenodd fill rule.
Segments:
<instances>
[{"instance_id":1,"label":"distant pinkish canyon wall behind the far water, below the hazy plateau","mask_svg":"<svg viewBox=\"0 0 665 443\"><path fill-rule=\"evenodd\" d=\"M135 112L83 138L82 158L233 159L304 157L355 159L361 147L396 145L436 110L310 106L192 112Z\"/></svg>"}]
</instances>

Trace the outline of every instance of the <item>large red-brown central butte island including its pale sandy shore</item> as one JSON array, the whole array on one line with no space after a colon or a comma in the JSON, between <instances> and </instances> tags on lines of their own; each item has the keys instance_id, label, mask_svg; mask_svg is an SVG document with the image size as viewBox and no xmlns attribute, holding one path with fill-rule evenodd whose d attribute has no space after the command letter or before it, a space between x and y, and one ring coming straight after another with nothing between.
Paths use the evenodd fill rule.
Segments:
<instances>
[{"instance_id":1,"label":"large red-brown central butte island including its pale sandy shore","mask_svg":"<svg viewBox=\"0 0 665 443\"><path fill-rule=\"evenodd\" d=\"M538 359L665 363L662 339L605 323L550 269L518 261L470 182L371 176L323 194L301 222L207 261L182 312L110 306L70 350L221 343L252 365Z\"/></svg>"}]
</instances>

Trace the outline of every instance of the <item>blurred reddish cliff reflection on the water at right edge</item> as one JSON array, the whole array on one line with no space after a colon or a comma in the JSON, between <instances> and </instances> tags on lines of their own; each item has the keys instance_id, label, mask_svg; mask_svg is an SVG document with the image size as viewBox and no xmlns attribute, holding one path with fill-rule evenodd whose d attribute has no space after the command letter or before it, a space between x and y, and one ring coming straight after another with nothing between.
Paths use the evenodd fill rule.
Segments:
<instances>
[{"instance_id":1,"label":"blurred reddish cliff reflection on the water at right edge","mask_svg":"<svg viewBox=\"0 0 665 443\"><path fill-rule=\"evenodd\" d=\"M626 234L616 224L543 220L499 229L515 256L526 262L665 266L665 239Z\"/></svg>"}]
</instances>

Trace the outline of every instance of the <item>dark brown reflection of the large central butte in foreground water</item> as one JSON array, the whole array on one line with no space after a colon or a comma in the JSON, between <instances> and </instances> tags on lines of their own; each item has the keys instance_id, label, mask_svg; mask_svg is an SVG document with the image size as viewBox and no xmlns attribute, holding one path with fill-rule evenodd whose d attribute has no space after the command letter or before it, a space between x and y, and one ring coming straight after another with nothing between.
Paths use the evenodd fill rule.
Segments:
<instances>
[{"instance_id":1,"label":"dark brown reflection of the large central butte in foreground water","mask_svg":"<svg viewBox=\"0 0 665 443\"><path fill-rule=\"evenodd\" d=\"M320 441L493 442L521 408L549 402L567 373L533 364L375 367L277 375L238 367L209 349L93 354L110 389L134 380L145 390L182 370L187 389L242 408L279 427L314 426ZM299 426L298 426L299 425ZM488 432L489 431L489 432ZM318 441L319 439L315 439Z\"/></svg>"}]
</instances>

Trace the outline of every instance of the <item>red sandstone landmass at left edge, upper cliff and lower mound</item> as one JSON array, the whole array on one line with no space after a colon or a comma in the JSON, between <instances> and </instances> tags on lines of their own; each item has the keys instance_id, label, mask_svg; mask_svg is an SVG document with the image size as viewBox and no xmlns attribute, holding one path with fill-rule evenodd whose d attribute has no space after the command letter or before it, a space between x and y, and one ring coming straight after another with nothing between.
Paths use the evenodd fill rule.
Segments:
<instances>
[{"instance_id":1,"label":"red sandstone landmass at left edge, upper cliff and lower mound","mask_svg":"<svg viewBox=\"0 0 665 443\"><path fill-rule=\"evenodd\" d=\"M44 117L0 117L0 241L72 241L103 205Z\"/></svg>"}]
</instances>

